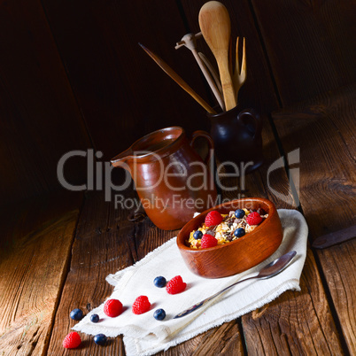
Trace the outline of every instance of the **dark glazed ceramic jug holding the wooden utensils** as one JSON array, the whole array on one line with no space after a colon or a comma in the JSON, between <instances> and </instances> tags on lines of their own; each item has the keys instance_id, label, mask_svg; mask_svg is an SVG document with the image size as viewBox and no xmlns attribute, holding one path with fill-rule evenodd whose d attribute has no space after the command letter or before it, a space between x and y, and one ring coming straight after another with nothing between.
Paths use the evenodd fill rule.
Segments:
<instances>
[{"instance_id":1,"label":"dark glazed ceramic jug holding the wooden utensils","mask_svg":"<svg viewBox=\"0 0 356 356\"><path fill-rule=\"evenodd\" d=\"M221 164L233 162L241 172L250 173L263 163L262 120L253 109L242 110L239 106L228 112L207 114L211 122L210 134L215 154ZM228 172L235 167L225 165Z\"/></svg>"}]
</instances>

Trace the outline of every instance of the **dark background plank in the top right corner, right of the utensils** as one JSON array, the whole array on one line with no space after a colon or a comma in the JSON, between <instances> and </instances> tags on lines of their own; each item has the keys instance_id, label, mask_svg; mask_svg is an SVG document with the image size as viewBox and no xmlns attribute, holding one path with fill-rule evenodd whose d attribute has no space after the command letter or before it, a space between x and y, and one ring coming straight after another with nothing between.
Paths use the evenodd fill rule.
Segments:
<instances>
[{"instance_id":1,"label":"dark background plank in the top right corner, right of the utensils","mask_svg":"<svg viewBox=\"0 0 356 356\"><path fill-rule=\"evenodd\" d=\"M356 81L353 1L252 0L282 105Z\"/></svg>"}]
</instances>

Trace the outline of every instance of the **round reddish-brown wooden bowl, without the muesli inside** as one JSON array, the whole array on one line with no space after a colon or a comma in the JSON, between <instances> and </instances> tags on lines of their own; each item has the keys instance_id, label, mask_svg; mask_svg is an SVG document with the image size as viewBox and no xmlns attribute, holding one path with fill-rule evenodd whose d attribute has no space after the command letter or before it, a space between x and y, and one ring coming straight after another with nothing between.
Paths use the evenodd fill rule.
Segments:
<instances>
[{"instance_id":1,"label":"round reddish-brown wooden bowl, without the muesli inside","mask_svg":"<svg viewBox=\"0 0 356 356\"><path fill-rule=\"evenodd\" d=\"M188 247L186 241L189 240L190 232L205 221L207 213L212 210L229 213L242 208L262 208L268 217L252 232L228 244L207 249ZM271 256L281 243L282 226L275 205L260 197L237 199L214 206L187 222L177 236L177 245L186 265L194 274L205 278L221 278L244 272Z\"/></svg>"}]
</instances>

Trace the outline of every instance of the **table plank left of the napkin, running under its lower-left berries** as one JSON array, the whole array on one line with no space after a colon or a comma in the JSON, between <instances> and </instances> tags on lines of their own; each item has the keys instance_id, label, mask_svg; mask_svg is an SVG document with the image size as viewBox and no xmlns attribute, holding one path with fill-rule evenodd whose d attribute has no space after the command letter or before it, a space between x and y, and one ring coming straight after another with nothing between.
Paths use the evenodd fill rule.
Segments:
<instances>
[{"instance_id":1,"label":"table plank left of the napkin, running under its lower-left berries","mask_svg":"<svg viewBox=\"0 0 356 356\"><path fill-rule=\"evenodd\" d=\"M129 194L132 196L132 191ZM130 197L128 192L126 197ZM86 314L100 306L113 289L105 277L133 264L135 256L131 254L130 245L135 224L128 221L127 216L127 210L115 209L113 200L105 202L101 192L88 194L78 221L70 270L56 313L48 354L66 354L62 341L76 322L69 318L69 313L80 308ZM81 334L81 340L81 347L71 354L124 354L122 337L110 340L104 349L89 335Z\"/></svg>"}]
</instances>

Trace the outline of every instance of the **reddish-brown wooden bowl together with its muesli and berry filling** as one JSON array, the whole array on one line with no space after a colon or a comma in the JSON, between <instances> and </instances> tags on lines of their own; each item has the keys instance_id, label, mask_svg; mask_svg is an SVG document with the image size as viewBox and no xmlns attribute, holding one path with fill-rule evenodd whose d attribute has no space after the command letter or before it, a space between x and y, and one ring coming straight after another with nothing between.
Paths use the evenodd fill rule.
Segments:
<instances>
[{"instance_id":1,"label":"reddish-brown wooden bowl together with its muesli and berry filling","mask_svg":"<svg viewBox=\"0 0 356 356\"><path fill-rule=\"evenodd\" d=\"M247 209L250 212L245 219L251 228L248 228L248 232L244 228L244 236L232 238L230 242L224 237L224 241L222 241L220 236L221 232L222 235L225 233L223 231L225 226L221 222L224 217L225 219L228 219L227 216L230 217L231 211L235 214L238 209ZM259 209L263 209L263 211ZM245 211L244 213L246 214ZM211 215L209 218L211 221L209 221L208 215ZM259 215L259 221L250 223L249 220L257 215ZM249 216L251 217L249 218ZM241 219L236 216L235 218ZM234 222L237 223L234 219L233 225L227 230L229 236L236 227ZM242 227L242 221L239 223ZM202 234L205 238L201 236L200 242L195 243L196 247L192 247L190 245L192 242L191 233L193 232L194 240L199 240L194 238L194 233L197 231L203 233L199 228L203 228L204 224L207 228L213 225L218 227L221 224L221 231L218 231L220 243L215 237L216 235L213 236L211 233L209 234L209 230L206 230L206 233ZM237 223L237 227L238 225ZM234 234L236 229L234 229ZM191 272L205 278L221 278L244 272L267 259L282 243L282 236L282 225L275 205L262 197L247 197L216 205L197 215L181 229L177 236L177 245Z\"/></svg>"}]
</instances>

